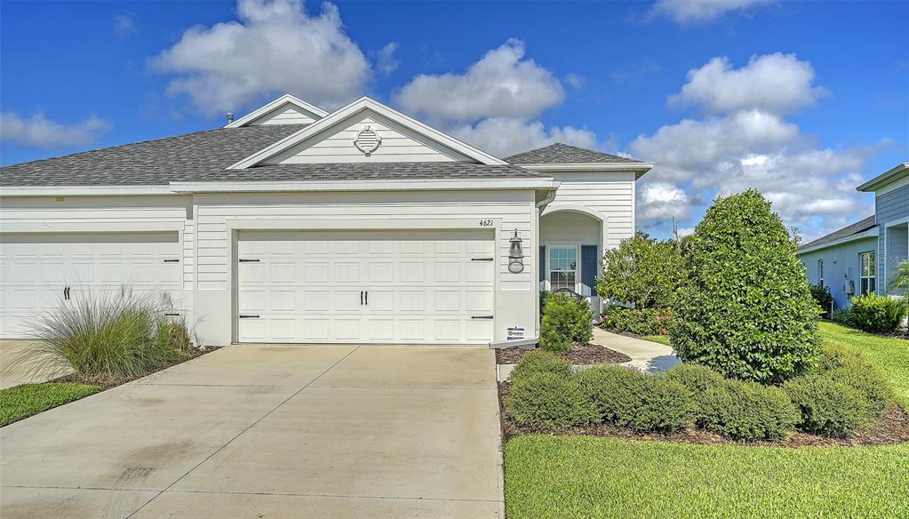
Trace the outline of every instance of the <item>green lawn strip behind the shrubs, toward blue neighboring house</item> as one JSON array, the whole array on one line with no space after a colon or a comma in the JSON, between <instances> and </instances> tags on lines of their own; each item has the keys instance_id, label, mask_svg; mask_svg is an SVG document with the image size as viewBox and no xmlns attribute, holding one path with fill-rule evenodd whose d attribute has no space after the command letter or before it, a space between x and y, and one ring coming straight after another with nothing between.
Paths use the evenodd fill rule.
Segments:
<instances>
[{"instance_id":1,"label":"green lawn strip behind the shrubs, toward blue neighboring house","mask_svg":"<svg viewBox=\"0 0 909 519\"><path fill-rule=\"evenodd\" d=\"M890 377L904 407L909 409L909 340L866 334L842 324L828 322L820 324L820 331L825 342L860 352L880 366Z\"/></svg>"}]
</instances>

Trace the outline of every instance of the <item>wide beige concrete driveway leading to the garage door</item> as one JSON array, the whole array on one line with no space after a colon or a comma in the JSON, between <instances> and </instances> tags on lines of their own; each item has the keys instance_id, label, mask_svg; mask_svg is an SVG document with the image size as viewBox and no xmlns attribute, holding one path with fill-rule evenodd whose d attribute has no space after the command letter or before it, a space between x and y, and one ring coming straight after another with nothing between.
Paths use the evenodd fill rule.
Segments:
<instances>
[{"instance_id":1,"label":"wide beige concrete driveway leading to the garage door","mask_svg":"<svg viewBox=\"0 0 909 519\"><path fill-rule=\"evenodd\" d=\"M501 517L482 347L231 346L0 429L0 517Z\"/></svg>"}]
</instances>

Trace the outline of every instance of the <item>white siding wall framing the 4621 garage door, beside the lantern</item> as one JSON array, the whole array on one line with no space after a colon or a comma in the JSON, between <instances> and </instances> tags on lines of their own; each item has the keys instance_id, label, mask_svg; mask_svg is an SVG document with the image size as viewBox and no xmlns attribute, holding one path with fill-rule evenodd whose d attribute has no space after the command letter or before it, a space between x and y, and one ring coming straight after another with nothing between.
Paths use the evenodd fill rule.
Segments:
<instances>
[{"instance_id":1,"label":"white siding wall framing the 4621 garage door, beside the lantern","mask_svg":"<svg viewBox=\"0 0 909 519\"><path fill-rule=\"evenodd\" d=\"M229 344L235 309L236 232L243 229L482 228L492 220L498 264L494 340L509 326L535 336L536 250L534 192L360 192L196 195L195 316L204 344ZM509 238L524 240L524 272L508 272Z\"/></svg>"}]
</instances>

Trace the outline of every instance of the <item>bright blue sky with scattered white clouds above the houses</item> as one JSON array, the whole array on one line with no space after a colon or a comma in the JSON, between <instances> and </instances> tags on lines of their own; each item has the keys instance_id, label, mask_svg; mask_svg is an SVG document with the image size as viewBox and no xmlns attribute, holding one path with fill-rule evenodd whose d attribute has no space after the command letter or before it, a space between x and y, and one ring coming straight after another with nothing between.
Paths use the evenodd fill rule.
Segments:
<instances>
[{"instance_id":1,"label":"bright blue sky with scattered white clouds above the houses","mask_svg":"<svg viewBox=\"0 0 909 519\"><path fill-rule=\"evenodd\" d=\"M757 187L812 238L909 160L903 2L4 2L4 165L224 124L285 91L373 95L507 155L657 164L638 226ZM39 29L36 29L39 28Z\"/></svg>"}]
</instances>

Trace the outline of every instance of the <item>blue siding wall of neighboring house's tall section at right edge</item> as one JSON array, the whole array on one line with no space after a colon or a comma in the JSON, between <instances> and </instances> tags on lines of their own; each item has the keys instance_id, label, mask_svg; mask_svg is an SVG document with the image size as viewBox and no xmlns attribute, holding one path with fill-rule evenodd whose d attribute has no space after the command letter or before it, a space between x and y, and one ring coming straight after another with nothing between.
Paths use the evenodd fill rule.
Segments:
<instances>
[{"instance_id":1,"label":"blue siding wall of neighboring house's tall section at right edge","mask_svg":"<svg viewBox=\"0 0 909 519\"><path fill-rule=\"evenodd\" d=\"M909 184L874 194L874 210L880 234L877 240L878 272L884 284L882 289L890 282L887 277L893 273L896 264L905 259L909 249L909 236L905 227L887 228L893 222L905 221L909 218ZM891 254L891 253L901 254Z\"/></svg>"}]
</instances>

